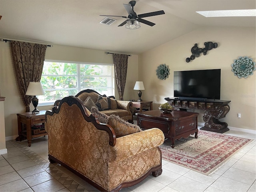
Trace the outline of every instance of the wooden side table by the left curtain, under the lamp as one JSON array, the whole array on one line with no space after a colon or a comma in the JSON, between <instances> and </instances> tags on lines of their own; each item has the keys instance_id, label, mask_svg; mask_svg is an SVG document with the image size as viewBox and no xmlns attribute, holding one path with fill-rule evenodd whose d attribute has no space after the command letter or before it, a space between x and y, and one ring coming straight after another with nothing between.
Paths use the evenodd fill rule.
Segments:
<instances>
[{"instance_id":1,"label":"wooden side table by the left curtain, under the lamp","mask_svg":"<svg viewBox=\"0 0 256 192\"><path fill-rule=\"evenodd\" d=\"M32 138L46 136L47 132L44 130L44 126L41 129L35 130L34 134L32 134L32 126L36 124L44 125L45 113L45 110L42 110L36 114L32 114L32 112L18 113L17 117L19 136L16 138L16 141L22 141L27 138L28 146L30 147ZM26 125L26 130L23 128L24 125Z\"/></svg>"}]
</instances>

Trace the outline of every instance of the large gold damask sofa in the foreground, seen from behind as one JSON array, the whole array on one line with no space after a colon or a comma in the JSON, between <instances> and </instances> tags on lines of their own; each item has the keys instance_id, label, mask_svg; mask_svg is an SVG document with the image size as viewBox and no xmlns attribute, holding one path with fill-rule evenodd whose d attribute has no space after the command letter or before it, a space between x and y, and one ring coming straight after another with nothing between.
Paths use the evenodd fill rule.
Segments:
<instances>
[{"instance_id":1,"label":"large gold damask sofa in the foreground, seen from behind","mask_svg":"<svg viewBox=\"0 0 256 192\"><path fill-rule=\"evenodd\" d=\"M108 124L98 119L74 96L47 111L50 162L58 162L101 191L119 191L150 173L162 173L160 129L141 131L115 115L106 119Z\"/></svg>"}]
</instances>

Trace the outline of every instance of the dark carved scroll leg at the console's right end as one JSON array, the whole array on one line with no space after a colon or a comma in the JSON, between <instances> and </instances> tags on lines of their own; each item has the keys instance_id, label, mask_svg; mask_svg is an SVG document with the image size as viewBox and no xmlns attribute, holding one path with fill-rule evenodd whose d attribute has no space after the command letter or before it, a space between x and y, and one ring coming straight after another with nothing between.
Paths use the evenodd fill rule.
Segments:
<instances>
[{"instance_id":1,"label":"dark carved scroll leg at the console's right end","mask_svg":"<svg viewBox=\"0 0 256 192\"><path fill-rule=\"evenodd\" d=\"M203 120L205 122L204 127L200 130L224 133L229 130L226 122L220 122L219 119L226 116L229 112L229 106L216 106L214 111L206 110L204 112Z\"/></svg>"}]
</instances>

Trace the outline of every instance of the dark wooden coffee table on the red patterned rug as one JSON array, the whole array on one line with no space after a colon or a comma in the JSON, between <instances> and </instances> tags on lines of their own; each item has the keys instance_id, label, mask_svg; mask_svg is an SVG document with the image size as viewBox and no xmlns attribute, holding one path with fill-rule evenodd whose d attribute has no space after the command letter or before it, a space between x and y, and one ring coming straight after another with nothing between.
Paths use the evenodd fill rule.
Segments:
<instances>
[{"instance_id":1,"label":"dark wooden coffee table on the red patterned rug","mask_svg":"<svg viewBox=\"0 0 256 192\"><path fill-rule=\"evenodd\" d=\"M137 113L137 124L142 129L159 128L164 133L165 138L172 142L176 139L187 138L191 134L195 134L198 138L198 115L199 113L186 111L172 111L171 113L163 113L160 110L152 110Z\"/></svg>"}]
</instances>

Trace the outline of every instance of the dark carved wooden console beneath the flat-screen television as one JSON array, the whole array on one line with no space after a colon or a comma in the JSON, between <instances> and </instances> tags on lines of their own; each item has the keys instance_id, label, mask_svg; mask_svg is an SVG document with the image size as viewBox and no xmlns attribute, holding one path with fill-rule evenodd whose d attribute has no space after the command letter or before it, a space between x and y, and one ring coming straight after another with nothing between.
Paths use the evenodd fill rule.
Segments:
<instances>
[{"instance_id":1,"label":"dark carved wooden console beneath the flat-screen television","mask_svg":"<svg viewBox=\"0 0 256 192\"><path fill-rule=\"evenodd\" d=\"M229 112L230 107L227 100L207 99L206 101L180 99L180 98L164 98L174 110L180 109L198 109L204 110L204 127L201 130L224 133L229 130L226 122L220 122L219 119L224 118Z\"/></svg>"}]
</instances>

